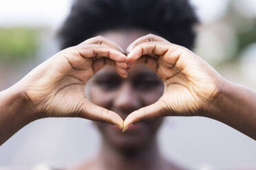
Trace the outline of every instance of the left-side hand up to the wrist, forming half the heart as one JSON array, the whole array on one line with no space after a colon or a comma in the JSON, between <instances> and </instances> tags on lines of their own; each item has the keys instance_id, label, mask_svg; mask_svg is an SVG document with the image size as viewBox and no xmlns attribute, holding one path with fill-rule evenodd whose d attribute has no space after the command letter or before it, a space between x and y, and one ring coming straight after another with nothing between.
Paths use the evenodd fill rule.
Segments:
<instances>
[{"instance_id":1,"label":"left-side hand up to the wrist, forming half the heart","mask_svg":"<svg viewBox=\"0 0 256 170\"><path fill-rule=\"evenodd\" d=\"M117 72L127 77L125 61L118 45L98 36L52 56L17 86L37 117L83 117L116 124L122 129L123 121L118 114L87 99L85 84L106 64L116 66Z\"/></svg>"}]
</instances>

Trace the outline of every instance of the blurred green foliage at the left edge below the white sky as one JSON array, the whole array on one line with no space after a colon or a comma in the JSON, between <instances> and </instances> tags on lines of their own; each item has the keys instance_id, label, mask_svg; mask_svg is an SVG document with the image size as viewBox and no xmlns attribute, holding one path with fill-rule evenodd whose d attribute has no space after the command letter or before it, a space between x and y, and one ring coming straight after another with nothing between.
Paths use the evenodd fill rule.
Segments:
<instances>
[{"instance_id":1,"label":"blurred green foliage at the left edge below the white sky","mask_svg":"<svg viewBox=\"0 0 256 170\"><path fill-rule=\"evenodd\" d=\"M25 60L38 49L38 30L25 27L0 28L0 61Z\"/></svg>"}]
</instances>

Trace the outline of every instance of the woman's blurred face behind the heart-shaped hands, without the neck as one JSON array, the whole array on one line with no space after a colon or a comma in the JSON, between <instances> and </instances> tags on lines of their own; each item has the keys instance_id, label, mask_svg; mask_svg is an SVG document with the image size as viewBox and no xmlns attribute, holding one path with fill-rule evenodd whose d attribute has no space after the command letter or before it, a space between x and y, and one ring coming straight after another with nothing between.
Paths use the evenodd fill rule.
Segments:
<instances>
[{"instance_id":1,"label":"woman's blurred face behind the heart-shaped hands, without the neck","mask_svg":"<svg viewBox=\"0 0 256 170\"><path fill-rule=\"evenodd\" d=\"M100 35L116 42L122 49L148 32L137 29L103 32ZM125 120L128 114L157 101L164 86L158 76L143 64L134 66L127 78L122 78L114 66L105 66L89 81L89 99L98 106L116 112ZM110 145L122 149L140 149L154 138L162 119L136 123L126 132L108 123L96 123Z\"/></svg>"}]
</instances>

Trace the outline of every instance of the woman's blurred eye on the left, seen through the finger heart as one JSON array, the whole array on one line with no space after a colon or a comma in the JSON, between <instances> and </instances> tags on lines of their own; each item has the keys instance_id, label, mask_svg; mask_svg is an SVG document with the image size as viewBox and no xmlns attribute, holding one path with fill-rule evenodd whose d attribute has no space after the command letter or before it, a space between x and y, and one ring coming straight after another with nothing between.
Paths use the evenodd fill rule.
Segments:
<instances>
[{"instance_id":1,"label":"woman's blurred eye on the left, seen through the finger heart","mask_svg":"<svg viewBox=\"0 0 256 170\"><path fill-rule=\"evenodd\" d=\"M95 81L96 86L100 86L103 90L114 90L121 84L120 80L116 78L101 78Z\"/></svg>"}]
</instances>

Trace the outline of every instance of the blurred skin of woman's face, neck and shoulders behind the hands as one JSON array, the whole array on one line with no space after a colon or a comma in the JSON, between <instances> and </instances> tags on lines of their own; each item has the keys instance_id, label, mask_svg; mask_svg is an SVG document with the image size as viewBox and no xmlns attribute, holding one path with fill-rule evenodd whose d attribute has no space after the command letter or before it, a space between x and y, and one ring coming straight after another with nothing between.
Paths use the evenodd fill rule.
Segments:
<instances>
[{"instance_id":1,"label":"blurred skin of woman's face, neck and shoulders behind the hands","mask_svg":"<svg viewBox=\"0 0 256 170\"><path fill-rule=\"evenodd\" d=\"M145 34L138 29L101 33L122 49ZM131 112L156 102L164 84L147 66L137 64L127 78L120 77L113 66L105 66L92 77L88 88L90 101L125 120ZM98 156L74 169L180 169L160 155L156 134L161 123L160 118L138 123L126 132L109 123L96 123L102 136Z\"/></svg>"}]
</instances>

